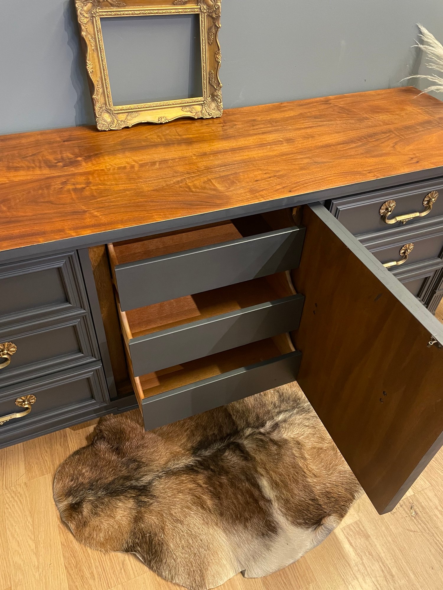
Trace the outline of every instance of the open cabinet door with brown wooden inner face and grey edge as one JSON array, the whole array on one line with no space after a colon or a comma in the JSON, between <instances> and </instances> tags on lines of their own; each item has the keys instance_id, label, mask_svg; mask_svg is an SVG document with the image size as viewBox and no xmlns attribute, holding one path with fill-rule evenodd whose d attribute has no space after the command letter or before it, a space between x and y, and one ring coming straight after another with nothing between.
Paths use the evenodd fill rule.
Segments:
<instances>
[{"instance_id":1,"label":"open cabinet door with brown wooden inner face and grey edge","mask_svg":"<svg viewBox=\"0 0 443 590\"><path fill-rule=\"evenodd\" d=\"M302 223L297 381L383 514L443 443L443 326L323 205Z\"/></svg>"}]
</instances>

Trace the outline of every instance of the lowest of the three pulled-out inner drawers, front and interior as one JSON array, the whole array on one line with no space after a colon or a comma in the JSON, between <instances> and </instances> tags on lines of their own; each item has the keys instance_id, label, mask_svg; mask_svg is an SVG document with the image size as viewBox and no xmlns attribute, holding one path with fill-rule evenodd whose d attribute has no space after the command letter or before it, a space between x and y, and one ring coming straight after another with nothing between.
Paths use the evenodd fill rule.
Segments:
<instances>
[{"instance_id":1,"label":"lowest of the three pulled-out inner drawers, front and interior","mask_svg":"<svg viewBox=\"0 0 443 590\"><path fill-rule=\"evenodd\" d=\"M261 340L140 378L133 386L146 430L297 379L301 353L288 335Z\"/></svg>"}]
</instances>

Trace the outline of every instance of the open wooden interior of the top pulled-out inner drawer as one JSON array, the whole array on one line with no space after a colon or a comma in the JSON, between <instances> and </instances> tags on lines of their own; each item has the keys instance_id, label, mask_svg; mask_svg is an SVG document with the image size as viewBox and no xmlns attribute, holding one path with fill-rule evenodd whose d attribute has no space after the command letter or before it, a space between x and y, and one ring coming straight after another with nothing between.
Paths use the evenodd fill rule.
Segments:
<instances>
[{"instance_id":1,"label":"open wooden interior of the top pulled-out inner drawer","mask_svg":"<svg viewBox=\"0 0 443 590\"><path fill-rule=\"evenodd\" d=\"M108 245L111 263L113 266L118 266L294 227L295 222L291 211L291 209L282 209L167 234L114 242Z\"/></svg>"}]
</instances>

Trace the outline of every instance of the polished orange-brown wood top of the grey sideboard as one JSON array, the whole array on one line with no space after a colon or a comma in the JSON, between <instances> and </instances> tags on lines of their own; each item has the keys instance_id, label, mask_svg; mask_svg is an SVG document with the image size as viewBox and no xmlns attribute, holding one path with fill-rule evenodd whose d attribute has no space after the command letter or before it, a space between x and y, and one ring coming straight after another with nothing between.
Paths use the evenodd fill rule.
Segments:
<instances>
[{"instance_id":1,"label":"polished orange-brown wood top of the grey sideboard","mask_svg":"<svg viewBox=\"0 0 443 590\"><path fill-rule=\"evenodd\" d=\"M301 204L387 177L432 178L441 166L443 104L411 87L119 132L2 136L0 251L288 197Z\"/></svg>"}]
</instances>

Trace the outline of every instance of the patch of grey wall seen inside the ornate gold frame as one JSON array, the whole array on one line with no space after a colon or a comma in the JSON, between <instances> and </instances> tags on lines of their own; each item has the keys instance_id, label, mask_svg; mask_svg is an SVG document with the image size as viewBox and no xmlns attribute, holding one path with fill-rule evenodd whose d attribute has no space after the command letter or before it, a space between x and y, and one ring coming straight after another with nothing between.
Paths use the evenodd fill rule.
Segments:
<instances>
[{"instance_id":1,"label":"patch of grey wall seen inside the ornate gold frame","mask_svg":"<svg viewBox=\"0 0 443 590\"><path fill-rule=\"evenodd\" d=\"M100 21L115 106L202 96L198 14Z\"/></svg>"}]
</instances>

